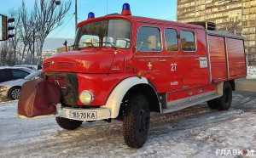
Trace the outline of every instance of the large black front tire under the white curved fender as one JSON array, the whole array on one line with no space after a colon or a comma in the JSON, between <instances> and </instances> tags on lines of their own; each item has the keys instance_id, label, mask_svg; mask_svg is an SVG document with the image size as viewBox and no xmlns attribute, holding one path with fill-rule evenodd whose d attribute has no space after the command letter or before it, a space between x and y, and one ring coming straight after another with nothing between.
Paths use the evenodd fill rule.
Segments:
<instances>
[{"instance_id":1,"label":"large black front tire under the white curved fender","mask_svg":"<svg viewBox=\"0 0 256 158\"><path fill-rule=\"evenodd\" d=\"M123 133L125 144L131 148L140 148L148 137L150 111L144 95L133 95L125 110Z\"/></svg>"}]
</instances>

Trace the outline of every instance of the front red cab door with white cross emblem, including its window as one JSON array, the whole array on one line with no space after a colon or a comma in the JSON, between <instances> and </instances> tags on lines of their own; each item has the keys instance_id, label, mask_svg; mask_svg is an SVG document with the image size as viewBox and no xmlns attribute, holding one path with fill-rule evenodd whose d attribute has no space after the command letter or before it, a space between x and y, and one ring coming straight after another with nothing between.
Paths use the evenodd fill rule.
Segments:
<instances>
[{"instance_id":1,"label":"front red cab door with white cross emblem, including its window","mask_svg":"<svg viewBox=\"0 0 256 158\"><path fill-rule=\"evenodd\" d=\"M166 57L160 25L139 23L136 34L135 72L152 82L159 93L166 92Z\"/></svg>"}]
</instances>

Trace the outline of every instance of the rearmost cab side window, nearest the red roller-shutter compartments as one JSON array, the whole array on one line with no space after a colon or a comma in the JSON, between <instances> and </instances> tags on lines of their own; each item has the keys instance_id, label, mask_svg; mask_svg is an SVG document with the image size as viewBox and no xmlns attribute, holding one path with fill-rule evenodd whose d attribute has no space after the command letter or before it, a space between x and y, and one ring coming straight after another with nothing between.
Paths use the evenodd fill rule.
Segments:
<instances>
[{"instance_id":1,"label":"rearmost cab side window, nearest the red roller-shutter compartments","mask_svg":"<svg viewBox=\"0 0 256 158\"><path fill-rule=\"evenodd\" d=\"M193 31L180 31L180 42L183 51L195 51L195 33Z\"/></svg>"}]
</instances>

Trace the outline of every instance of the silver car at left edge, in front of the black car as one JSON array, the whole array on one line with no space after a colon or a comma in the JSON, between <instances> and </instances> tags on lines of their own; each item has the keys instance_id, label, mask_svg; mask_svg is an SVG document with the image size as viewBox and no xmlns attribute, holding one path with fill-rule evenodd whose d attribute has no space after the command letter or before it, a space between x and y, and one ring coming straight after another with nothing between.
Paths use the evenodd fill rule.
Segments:
<instances>
[{"instance_id":1,"label":"silver car at left edge, in front of the black car","mask_svg":"<svg viewBox=\"0 0 256 158\"><path fill-rule=\"evenodd\" d=\"M29 80L37 78L40 74L41 71L33 71L30 75L24 78L0 83L0 97L9 99L19 99L20 88L22 87L22 85Z\"/></svg>"}]
</instances>

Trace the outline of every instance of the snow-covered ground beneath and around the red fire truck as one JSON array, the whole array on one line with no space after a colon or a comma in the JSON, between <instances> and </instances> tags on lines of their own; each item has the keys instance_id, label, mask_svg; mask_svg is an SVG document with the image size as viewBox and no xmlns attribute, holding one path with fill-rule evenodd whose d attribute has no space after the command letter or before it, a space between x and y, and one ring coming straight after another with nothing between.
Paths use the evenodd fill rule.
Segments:
<instances>
[{"instance_id":1,"label":"snow-covered ground beneath and around the red fire truck","mask_svg":"<svg viewBox=\"0 0 256 158\"><path fill-rule=\"evenodd\" d=\"M0 157L213 157L216 150L256 150L256 93L236 92L228 111L206 104L152 114L148 140L131 149L122 122L84 122L67 131L54 118L15 116L17 101L0 103ZM234 157L234 156L231 156Z\"/></svg>"}]
</instances>

